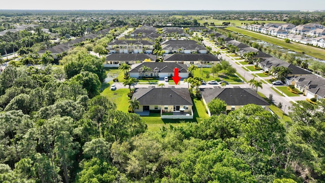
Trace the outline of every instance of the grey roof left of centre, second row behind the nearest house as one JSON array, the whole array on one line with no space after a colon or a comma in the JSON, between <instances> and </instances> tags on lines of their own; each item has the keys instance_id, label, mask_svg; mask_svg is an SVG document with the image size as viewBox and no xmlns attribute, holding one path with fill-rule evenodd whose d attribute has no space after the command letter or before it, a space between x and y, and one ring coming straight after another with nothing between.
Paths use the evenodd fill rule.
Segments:
<instances>
[{"instance_id":1,"label":"grey roof left of centre, second row behind the nearest house","mask_svg":"<svg viewBox=\"0 0 325 183\"><path fill-rule=\"evenodd\" d=\"M107 61L144 61L150 58L151 61L156 60L155 55L145 53L112 53L106 56Z\"/></svg>"}]
</instances>

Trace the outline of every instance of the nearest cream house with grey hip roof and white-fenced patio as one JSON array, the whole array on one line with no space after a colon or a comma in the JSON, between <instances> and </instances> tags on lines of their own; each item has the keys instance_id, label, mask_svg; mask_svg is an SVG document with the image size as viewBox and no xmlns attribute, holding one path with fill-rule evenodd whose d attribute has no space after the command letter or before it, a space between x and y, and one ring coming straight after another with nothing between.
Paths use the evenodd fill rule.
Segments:
<instances>
[{"instance_id":1,"label":"nearest cream house with grey hip roof and white-fenced patio","mask_svg":"<svg viewBox=\"0 0 325 183\"><path fill-rule=\"evenodd\" d=\"M161 118L193 118L192 99L187 88L136 88L132 100L139 101L136 113L159 111Z\"/></svg>"}]
</instances>

